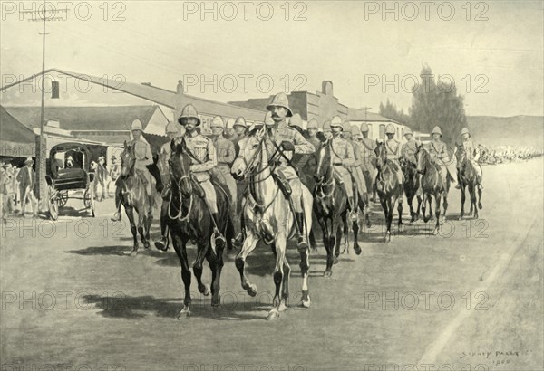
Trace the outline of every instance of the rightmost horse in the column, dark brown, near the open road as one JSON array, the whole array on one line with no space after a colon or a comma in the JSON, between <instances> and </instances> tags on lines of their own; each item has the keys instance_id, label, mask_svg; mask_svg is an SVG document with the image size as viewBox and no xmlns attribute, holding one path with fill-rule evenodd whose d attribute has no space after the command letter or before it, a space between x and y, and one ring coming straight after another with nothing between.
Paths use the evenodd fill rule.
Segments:
<instances>
[{"instance_id":1,"label":"rightmost horse in the column, dark brown, near the open road","mask_svg":"<svg viewBox=\"0 0 544 371\"><path fill-rule=\"evenodd\" d=\"M469 211L469 216L474 213L474 219L478 219L478 208L481 206L481 189L479 189L478 176L476 175L476 170L471 164L471 161L467 157L467 153L462 147L462 144L457 144L457 151L455 156L457 157L457 164L459 169L459 185L461 185L461 213L459 214L459 219L461 220L464 216L464 202L466 199L465 188L469 187L469 193L471 194L471 210ZM478 207L476 207L476 191L478 191Z\"/></svg>"}]
</instances>

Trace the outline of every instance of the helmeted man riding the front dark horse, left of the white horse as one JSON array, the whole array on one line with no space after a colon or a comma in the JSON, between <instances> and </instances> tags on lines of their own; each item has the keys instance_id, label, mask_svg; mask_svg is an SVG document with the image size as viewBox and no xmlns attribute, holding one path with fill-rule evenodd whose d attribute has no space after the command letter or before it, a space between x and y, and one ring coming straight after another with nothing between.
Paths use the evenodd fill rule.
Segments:
<instances>
[{"instance_id":1,"label":"helmeted man riding the front dark horse, left of the white horse","mask_svg":"<svg viewBox=\"0 0 544 371\"><path fill-rule=\"evenodd\" d=\"M214 239L216 244L224 242L225 238L219 232L218 225L218 205L215 187L210 181L210 171L218 165L216 149L211 139L199 134L197 128L201 124L197 109L192 104L188 104L181 111L178 123L185 128L185 135L182 140L185 141L189 157L192 160L190 165L191 177L194 184L197 185L195 191L205 198L206 205L209 208L214 222ZM178 139L180 140L180 139ZM203 195L202 195L203 194Z\"/></svg>"}]
</instances>

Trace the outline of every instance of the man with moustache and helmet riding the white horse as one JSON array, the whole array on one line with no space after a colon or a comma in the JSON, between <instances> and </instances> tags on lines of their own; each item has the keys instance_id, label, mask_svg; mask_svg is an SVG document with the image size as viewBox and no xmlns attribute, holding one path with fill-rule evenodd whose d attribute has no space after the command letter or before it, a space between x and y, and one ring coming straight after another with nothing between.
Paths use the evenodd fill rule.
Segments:
<instances>
[{"instance_id":1,"label":"man with moustache and helmet riding the white horse","mask_svg":"<svg viewBox=\"0 0 544 371\"><path fill-rule=\"evenodd\" d=\"M289 195L289 205L295 214L296 219L296 243L299 248L307 246L306 233L304 231L304 214L302 208L302 182L296 173L296 169L291 163L294 154L314 153L314 146L306 140L295 128L287 125L287 117L293 116L293 111L289 108L289 101L285 93L277 93L267 110L272 112L274 124L267 127L268 136L276 147L277 166L274 173L277 180L282 183L283 188L291 190ZM286 184L287 181L287 184Z\"/></svg>"}]
</instances>

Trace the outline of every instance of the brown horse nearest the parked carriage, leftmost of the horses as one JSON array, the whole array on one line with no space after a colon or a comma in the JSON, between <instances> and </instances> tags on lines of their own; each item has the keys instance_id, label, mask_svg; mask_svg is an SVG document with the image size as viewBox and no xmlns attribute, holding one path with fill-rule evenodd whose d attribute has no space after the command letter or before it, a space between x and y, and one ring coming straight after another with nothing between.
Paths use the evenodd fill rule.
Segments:
<instances>
[{"instance_id":1,"label":"brown horse nearest the parked carriage, leftmost of the horses","mask_svg":"<svg viewBox=\"0 0 544 371\"><path fill-rule=\"evenodd\" d=\"M150 228L153 221L154 199L147 195L143 176L135 168L136 155L134 146L124 143L121 153L121 175L117 186L121 187L120 201L131 223L131 233L134 239L131 256L138 254L138 233L141 243L146 249L150 248ZM151 185L153 189L154 185ZM138 224L134 223L134 210L138 213Z\"/></svg>"}]
</instances>

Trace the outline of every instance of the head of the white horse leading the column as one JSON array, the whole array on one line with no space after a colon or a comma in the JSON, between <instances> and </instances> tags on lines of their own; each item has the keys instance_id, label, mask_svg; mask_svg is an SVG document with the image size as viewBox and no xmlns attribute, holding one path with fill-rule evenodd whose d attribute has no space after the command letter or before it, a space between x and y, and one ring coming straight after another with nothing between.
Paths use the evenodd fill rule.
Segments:
<instances>
[{"instance_id":1,"label":"head of the white horse leading the column","mask_svg":"<svg viewBox=\"0 0 544 371\"><path fill-rule=\"evenodd\" d=\"M260 163L257 159L262 150L265 138L265 128L254 128L248 135L238 141L238 157L230 167L230 174L235 179L242 179L246 174L252 173Z\"/></svg>"}]
</instances>

